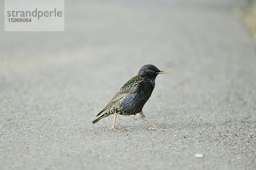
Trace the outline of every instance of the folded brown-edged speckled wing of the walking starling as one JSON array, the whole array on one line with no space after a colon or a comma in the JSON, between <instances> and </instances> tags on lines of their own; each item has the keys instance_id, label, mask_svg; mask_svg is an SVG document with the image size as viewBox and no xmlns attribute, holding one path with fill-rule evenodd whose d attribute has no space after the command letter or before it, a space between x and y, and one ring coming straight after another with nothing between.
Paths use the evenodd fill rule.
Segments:
<instances>
[{"instance_id":1,"label":"folded brown-edged speckled wing of the walking starling","mask_svg":"<svg viewBox=\"0 0 256 170\"><path fill-rule=\"evenodd\" d=\"M111 101L106 105L104 109L102 109L101 112L99 112L98 115L100 115L103 111L110 108L117 102L119 102L121 99L123 99L126 96L129 96L133 93L135 93L138 90L138 86L143 83L142 77L133 77L128 82L126 82L122 88L119 90L119 92L111 99ZM97 116L98 116L97 115Z\"/></svg>"}]
</instances>

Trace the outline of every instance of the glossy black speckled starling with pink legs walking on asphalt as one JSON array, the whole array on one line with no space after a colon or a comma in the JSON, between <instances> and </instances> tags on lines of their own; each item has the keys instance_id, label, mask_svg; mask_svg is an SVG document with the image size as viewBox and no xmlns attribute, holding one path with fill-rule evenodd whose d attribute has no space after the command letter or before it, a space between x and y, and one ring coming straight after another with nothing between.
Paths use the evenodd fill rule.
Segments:
<instances>
[{"instance_id":1,"label":"glossy black speckled starling with pink legs walking on asphalt","mask_svg":"<svg viewBox=\"0 0 256 170\"><path fill-rule=\"evenodd\" d=\"M100 119L114 114L113 126L110 129L115 128L116 115L136 115L140 113L142 119L154 129L159 128L153 123L149 122L143 114L142 108L151 96L155 86L155 79L158 74L168 74L164 71L160 71L154 65L143 65L140 68L137 76L131 78L126 82L117 94L111 99L106 107L97 114L96 119L93 120L93 124ZM119 130L116 130L119 131Z\"/></svg>"}]
</instances>

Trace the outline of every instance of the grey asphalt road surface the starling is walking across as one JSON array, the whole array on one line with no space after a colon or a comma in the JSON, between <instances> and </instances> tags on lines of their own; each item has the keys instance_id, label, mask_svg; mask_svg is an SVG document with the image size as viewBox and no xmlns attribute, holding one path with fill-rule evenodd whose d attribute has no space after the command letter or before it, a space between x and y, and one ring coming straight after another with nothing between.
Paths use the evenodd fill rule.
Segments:
<instances>
[{"instance_id":1,"label":"grey asphalt road surface the starling is walking across","mask_svg":"<svg viewBox=\"0 0 256 170\"><path fill-rule=\"evenodd\" d=\"M64 32L4 32L1 170L255 170L256 52L244 0L72 1ZM1 2L3 9L3 2ZM142 65L143 112L91 121ZM195 157L203 154L203 158Z\"/></svg>"}]
</instances>

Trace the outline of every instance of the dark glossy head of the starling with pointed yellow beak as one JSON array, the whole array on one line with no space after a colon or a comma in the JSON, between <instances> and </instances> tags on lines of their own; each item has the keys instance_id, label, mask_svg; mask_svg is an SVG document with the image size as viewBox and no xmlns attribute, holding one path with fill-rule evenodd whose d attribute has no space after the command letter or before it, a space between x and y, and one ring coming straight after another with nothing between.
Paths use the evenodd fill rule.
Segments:
<instances>
[{"instance_id":1,"label":"dark glossy head of the starling with pointed yellow beak","mask_svg":"<svg viewBox=\"0 0 256 170\"><path fill-rule=\"evenodd\" d=\"M158 74L168 74L168 73L159 70L154 65L148 64L148 65L143 65L142 68L140 68L138 76L156 78Z\"/></svg>"}]
</instances>

